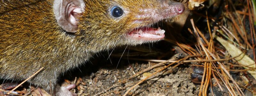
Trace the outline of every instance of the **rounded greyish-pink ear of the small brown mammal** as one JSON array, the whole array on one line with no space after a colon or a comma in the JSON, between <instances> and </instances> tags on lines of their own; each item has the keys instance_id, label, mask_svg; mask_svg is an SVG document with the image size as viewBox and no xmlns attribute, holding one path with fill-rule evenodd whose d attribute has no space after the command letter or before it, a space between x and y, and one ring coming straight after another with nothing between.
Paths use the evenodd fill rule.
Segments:
<instances>
[{"instance_id":1,"label":"rounded greyish-pink ear of the small brown mammal","mask_svg":"<svg viewBox=\"0 0 256 96\"><path fill-rule=\"evenodd\" d=\"M83 0L54 0L53 10L57 23L67 32L77 31L77 17L84 12Z\"/></svg>"}]
</instances>

